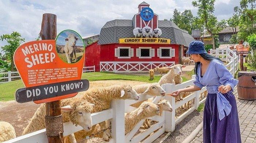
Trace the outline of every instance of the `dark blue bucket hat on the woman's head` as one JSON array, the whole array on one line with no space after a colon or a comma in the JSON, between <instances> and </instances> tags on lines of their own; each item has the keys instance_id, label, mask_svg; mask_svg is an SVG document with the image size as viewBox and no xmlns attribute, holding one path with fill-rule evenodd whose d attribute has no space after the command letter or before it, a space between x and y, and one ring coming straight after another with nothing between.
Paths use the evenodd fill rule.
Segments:
<instances>
[{"instance_id":1,"label":"dark blue bucket hat on the woman's head","mask_svg":"<svg viewBox=\"0 0 256 143\"><path fill-rule=\"evenodd\" d=\"M204 43L202 41L192 41L189 44L187 54L199 54L207 53L204 48Z\"/></svg>"}]
</instances>

